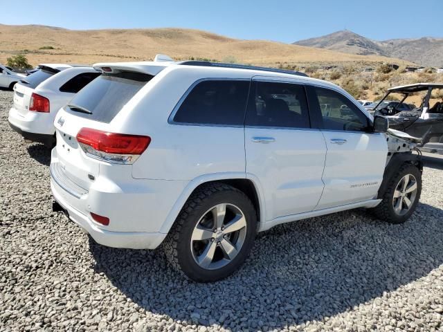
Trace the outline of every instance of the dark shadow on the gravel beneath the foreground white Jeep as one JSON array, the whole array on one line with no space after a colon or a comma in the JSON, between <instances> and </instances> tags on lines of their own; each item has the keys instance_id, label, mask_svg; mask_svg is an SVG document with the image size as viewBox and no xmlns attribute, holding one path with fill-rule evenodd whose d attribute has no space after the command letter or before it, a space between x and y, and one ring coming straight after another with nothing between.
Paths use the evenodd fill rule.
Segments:
<instances>
[{"instance_id":1,"label":"dark shadow on the gravel beneath the foreground white Jeep","mask_svg":"<svg viewBox=\"0 0 443 332\"><path fill-rule=\"evenodd\" d=\"M443 210L426 204L403 225L363 209L279 225L257 236L237 273L213 284L186 280L161 250L89 245L96 271L146 311L257 331L343 313L428 275L443 264L442 226Z\"/></svg>"}]
</instances>

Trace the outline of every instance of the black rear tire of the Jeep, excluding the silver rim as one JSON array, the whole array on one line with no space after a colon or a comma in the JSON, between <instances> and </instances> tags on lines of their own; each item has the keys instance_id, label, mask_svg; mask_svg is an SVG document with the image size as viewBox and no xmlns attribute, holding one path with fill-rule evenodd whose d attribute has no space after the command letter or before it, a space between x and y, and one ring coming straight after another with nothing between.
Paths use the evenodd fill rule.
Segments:
<instances>
[{"instance_id":1,"label":"black rear tire of the Jeep, excluding the silver rim","mask_svg":"<svg viewBox=\"0 0 443 332\"><path fill-rule=\"evenodd\" d=\"M228 265L215 270L202 268L192 256L191 237L199 220L217 204L236 205L246 219L246 235L237 256ZM202 185L192 193L172 226L163 250L172 266L195 282L215 282L235 272L248 257L257 232L257 216L253 203L243 192L224 183Z\"/></svg>"}]
</instances>

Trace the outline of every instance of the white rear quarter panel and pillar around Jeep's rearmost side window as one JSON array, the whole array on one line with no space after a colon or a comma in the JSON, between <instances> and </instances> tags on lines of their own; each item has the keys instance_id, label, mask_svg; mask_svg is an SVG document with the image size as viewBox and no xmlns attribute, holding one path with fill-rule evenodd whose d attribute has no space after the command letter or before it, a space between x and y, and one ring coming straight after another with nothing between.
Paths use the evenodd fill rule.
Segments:
<instances>
[{"instance_id":1,"label":"white rear quarter panel and pillar around Jeep's rearmost side window","mask_svg":"<svg viewBox=\"0 0 443 332\"><path fill-rule=\"evenodd\" d=\"M112 123L122 124L119 131L152 138L133 165L134 178L192 180L202 174L231 172L246 176L243 127L168 123L172 110L194 82L202 77L228 78L226 71L206 71L166 68L114 118Z\"/></svg>"}]
</instances>

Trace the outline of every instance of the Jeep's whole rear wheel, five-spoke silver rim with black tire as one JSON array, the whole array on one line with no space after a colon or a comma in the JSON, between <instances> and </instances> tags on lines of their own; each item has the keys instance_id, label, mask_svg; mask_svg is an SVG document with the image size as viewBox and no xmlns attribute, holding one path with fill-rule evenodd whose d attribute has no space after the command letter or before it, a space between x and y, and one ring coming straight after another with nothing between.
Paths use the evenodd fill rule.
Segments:
<instances>
[{"instance_id":1,"label":"Jeep's whole rear wheel, five-spoke silver rim with black tire","mask_svg":"<svg viewBox=\"0 0 443 332\"><path fill-rule=\"evenodd\" d=\"M174 268L187 277L215 282L243 264L256 228L248 197L230 185L211 183L188 199L163 247Z\"/></svg>"}]
</instances>

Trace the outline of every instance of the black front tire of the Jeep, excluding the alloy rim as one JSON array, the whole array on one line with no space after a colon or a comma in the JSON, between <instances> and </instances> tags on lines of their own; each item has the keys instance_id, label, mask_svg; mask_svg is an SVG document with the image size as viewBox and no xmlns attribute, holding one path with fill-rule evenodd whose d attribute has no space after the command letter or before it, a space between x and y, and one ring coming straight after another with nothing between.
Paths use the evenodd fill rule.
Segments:
<instances>
[{"instance_id":1,"label":"black front tire of the Jeep, excluding the alloy rim","mask_svg":"<svg viewBox=\"0 0 443 332\"><path fill-rule=\"evenodd\" d=\"M416 179L417 183L417 193L415 194L415 199L412 202L412 206L409 208L408 212L403 215L399 215L394 210L393 200L394 200L394 192L399 185L399 181L406 175L413 175ZM379 205L372 209L375 216L379 219L388 221L388 223L404 223L409 219L411 214L414 213L415 208L417 208L417 204L420 199L420 194L422 193L422 172L410 163L405 163L401 165L399 172L397 172L392 178L390 178L388 186L386 187L385 192L382 196L382 201Z\"/></svg>"}]
</instances>

